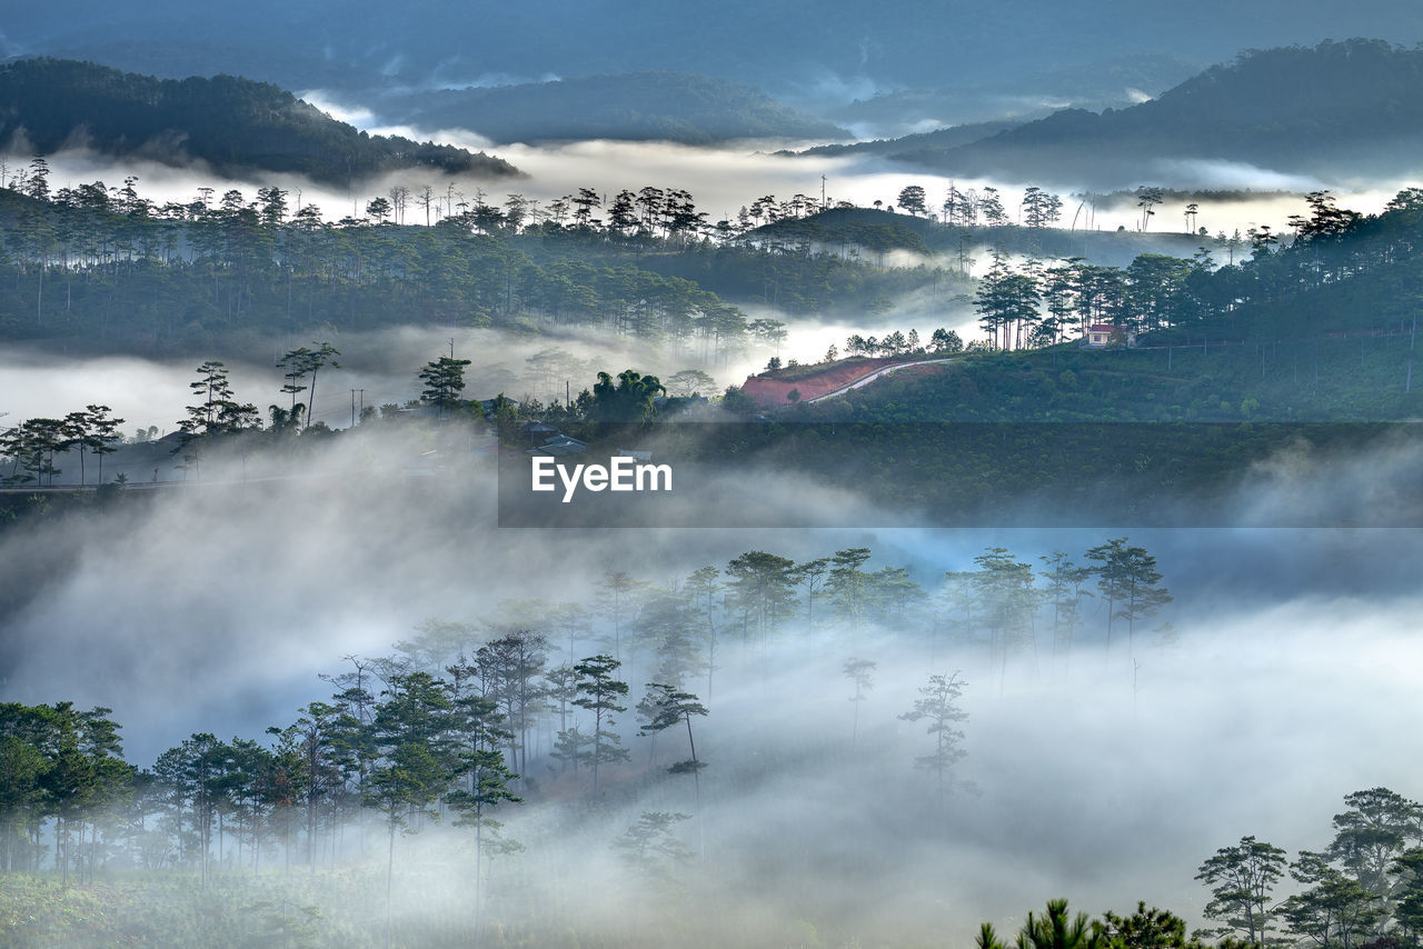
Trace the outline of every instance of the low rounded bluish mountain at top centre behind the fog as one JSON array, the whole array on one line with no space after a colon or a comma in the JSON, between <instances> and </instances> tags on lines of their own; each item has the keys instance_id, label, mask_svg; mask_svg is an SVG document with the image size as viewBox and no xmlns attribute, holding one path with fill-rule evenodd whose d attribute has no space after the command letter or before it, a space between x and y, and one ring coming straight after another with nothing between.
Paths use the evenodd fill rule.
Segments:
<instances>
[{"instance_id":1,"label":"low rounded bluish mountain at top centre behind the fog","mask_svg":"<svg viewBox=\"0 0 1423 949\"><path fill-rule=\"evenodd\" d=\"M441 90L383 100L383 117L467 128L495 142L615 138L707 145L737 138L848 138L748 85L696 73L639 71Z\"/></svg>"}]
</instances>

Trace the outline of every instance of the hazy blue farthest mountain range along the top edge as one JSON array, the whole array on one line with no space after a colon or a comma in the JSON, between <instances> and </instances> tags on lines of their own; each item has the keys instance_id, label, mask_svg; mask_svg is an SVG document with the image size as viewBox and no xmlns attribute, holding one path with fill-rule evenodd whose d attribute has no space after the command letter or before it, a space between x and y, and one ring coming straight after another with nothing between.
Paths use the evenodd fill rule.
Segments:
<instances>
[{"instance_id":1,"label":"hazy blue farthest mountain range along the top edge","mask_svg":"<svg viewBox=\"0 0 1423 949\"><path fill-rule=\"evenodd\" d=\"M10 54L91 58L168 77L221 71L364 98L393 87L650 68L751 84L808 111L896 90L1017 94L1023 77L1094 65L1087 75L1057 73L1046 88L1029 90L1083 102L1109 60L1153 54L1218 63L1244 47L1348 36L1413 44L1423 40L1423 4L407 0L397 13L380 0L54 0L9 4L0 31L0 51ZM1000 117L929 115L943 124Z\"/></svg>"}]
</instances>

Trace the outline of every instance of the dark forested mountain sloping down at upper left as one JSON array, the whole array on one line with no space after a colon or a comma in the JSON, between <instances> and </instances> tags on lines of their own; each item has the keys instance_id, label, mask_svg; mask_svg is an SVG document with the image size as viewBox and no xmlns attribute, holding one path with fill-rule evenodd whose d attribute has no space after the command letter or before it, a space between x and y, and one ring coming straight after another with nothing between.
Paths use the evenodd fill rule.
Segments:
<instances>
[{"instance_id":1,"label":"dark forested mountain sloping down at upper left","mask_svg":"<svg viewBox=\"0 0 1423 949\"><path fill-rule=\"evenodd\" d=\"M83 145L169 165L201 159L219 172L297 172L333 184L397 168L519 174L482 152L367 135L268 83L158 80L47 58L0 65L0 144L26 154Z\"/></svg>"}]
</instances>

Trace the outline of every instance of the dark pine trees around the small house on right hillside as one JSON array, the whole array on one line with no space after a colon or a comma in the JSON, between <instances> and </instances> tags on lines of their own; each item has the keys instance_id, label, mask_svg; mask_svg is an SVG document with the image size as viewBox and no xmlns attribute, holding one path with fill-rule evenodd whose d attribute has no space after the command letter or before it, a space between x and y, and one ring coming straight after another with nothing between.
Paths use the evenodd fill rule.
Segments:
<instances>
[{"instance_id":1,"label":"dark pine trees around the small house on right hillside","mask_svg":"<svg viewBox=\"0 0 1423 949\"><path fill-rule=\"evenodd\" d=\"M1161 201L1151 192L1138 191L1143 223ZM1079 337L1093 324L1113 327L1124 344L1147 333L1158 343L1208 333L1319 339L1360 323L1373 329L1380 317L1412 319L1389 289L1406 283L1423 249L1423 192L1405 189L1370 216L1340 209L1326 191L1305 202L1309 213L1291 218L1288 243L1269 226L1251 228L1245 239L1207 238L1210 246L1188 260L1144 253L1123 269L995 250L973 297L979 324L993 349L1023 349ZM1251 255L1237 260L1247 242ZM1217 266L1212 249L1228 250L1229 262Z\"/></svg>"}]
</instances>

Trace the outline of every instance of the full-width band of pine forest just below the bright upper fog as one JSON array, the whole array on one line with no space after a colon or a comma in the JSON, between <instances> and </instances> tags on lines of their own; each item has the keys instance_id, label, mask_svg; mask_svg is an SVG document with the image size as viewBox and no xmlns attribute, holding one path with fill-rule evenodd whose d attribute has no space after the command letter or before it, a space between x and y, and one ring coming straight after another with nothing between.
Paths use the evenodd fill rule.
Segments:
<instances>
[{"instance_id":1,"label":"full-width band of pine forest just below the bright upper fog","mask_svg":"<svg viewBox=\"0 0 1423 949\"><path fill-rule=\"evenodd\" d=\"M1147 252L1118 267L1044 250L1062 240L1063 201L1037 186L1016 209L995 188L951 186L942 215L918 185L899 192L899 213L766 195L713 225L677 188L625 189L606 206L581 188L541 208L518 193L502 206L482 191L471 202L451 184L391 188L361 218L332 222L276 186L255 199L199 188L188 203L155 205L132 176L54 193L48 176L36 158L0 189L10 339L194 351L243 334L386 326L398 313L416 324L581 326L706 364L743 351L748 332L776 341L774 320L748 320L740 306L884 313L915 292L970 300L988 350L1042 349L1106 324L1131 346L1217 336L1318 349L1406 334L1412 351L1409 297L1396 287L1416 263L1423 208L1416 188L1376 215L1318 191L1288 239L1269 226L1201 233L1192 258ZM1134 196L1146 232L1165 195ZM1187 205L1188 228L1198 213ZM918 263L887 266L887 253ZM979 255L986 270L973 279Z\"/></svg>"}]
</instances>

